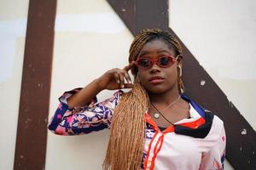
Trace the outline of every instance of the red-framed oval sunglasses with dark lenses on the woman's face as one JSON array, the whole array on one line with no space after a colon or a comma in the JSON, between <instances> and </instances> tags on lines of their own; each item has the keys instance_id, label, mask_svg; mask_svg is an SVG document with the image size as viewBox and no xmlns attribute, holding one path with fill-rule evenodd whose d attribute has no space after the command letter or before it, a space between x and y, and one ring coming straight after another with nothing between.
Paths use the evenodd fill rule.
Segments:
<instances>
[{"instance_id":1,"label":"red-framed oval sunglasses with dark lenses on the woman's face","mask_svg":"<svg viewBox=\"0 0 256 170\"><path fill-rule=\"evenodd\" d=\"M175 63L176 59L172 55L161 56L158 59L149 59L146 57L137 58L135 65L142 69L151 68L154 64L161 68L166 68Z\"/></svg>"}]
</instances>

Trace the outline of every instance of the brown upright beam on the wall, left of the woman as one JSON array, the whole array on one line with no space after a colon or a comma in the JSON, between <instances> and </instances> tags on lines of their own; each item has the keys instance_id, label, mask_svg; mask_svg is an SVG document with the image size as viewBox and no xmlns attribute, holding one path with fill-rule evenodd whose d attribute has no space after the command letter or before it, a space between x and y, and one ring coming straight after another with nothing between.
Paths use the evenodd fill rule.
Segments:
<instances>
[{"instance_id":1,"label":"brown upright beam on the wall, left of the woman","mask_svg":"<svg viewBox=\"0 0 256 170\"><path fill-rule=\"evenodd\" d=\"M56 0L30 0L14 169L44 169Z\"/></svg>"}]
</instances>

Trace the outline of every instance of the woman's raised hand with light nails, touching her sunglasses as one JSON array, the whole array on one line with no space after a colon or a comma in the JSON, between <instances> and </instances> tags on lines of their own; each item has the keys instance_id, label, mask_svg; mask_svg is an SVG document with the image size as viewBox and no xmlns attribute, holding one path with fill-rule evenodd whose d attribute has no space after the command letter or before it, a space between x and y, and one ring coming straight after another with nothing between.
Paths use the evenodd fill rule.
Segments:
<instances>
[{"instance_id":1,"label":"woman's raised hand with light nails, touching her sunglasses","mask_svg":"<svg viewBox=\"0 0 256 170\"><path fill-rule=\"evenodd\" d=\"M119 88L132 88L131 77L128 74L128 71L134 67L135 62L132 61L129 65L126 65L123 69L112 69L107 71L97 79L99 88L115 90ZM128 83L125 83L126 82Z\"/></svg>"}]
</instances>

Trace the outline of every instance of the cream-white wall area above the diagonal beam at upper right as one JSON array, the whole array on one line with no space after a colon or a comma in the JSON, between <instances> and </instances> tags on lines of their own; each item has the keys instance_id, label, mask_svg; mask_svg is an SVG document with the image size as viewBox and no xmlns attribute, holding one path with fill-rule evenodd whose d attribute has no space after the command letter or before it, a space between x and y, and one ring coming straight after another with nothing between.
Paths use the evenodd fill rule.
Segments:
<instances>
[{"instance_id":1,"label":"cream-white wall area above the diagonal beam at upper right","mask_svg":"<svg viewBox=\"0 0 256 170\"><path fill-rule=\"evenodd\" d=\"M172 30L256 129L256 2L170 0L169 6Z\"/></svg>"}]
</instances>

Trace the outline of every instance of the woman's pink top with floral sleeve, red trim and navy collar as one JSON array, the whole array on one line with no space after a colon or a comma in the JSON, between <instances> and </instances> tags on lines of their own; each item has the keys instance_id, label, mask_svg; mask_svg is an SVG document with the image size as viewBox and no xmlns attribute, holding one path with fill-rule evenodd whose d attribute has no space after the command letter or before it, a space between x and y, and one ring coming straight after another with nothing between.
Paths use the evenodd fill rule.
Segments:
<instances>
[{"instance_id":1,"label":"woman's pink top with floral sleeve, red trim and navy collar","mask_svg":"<svg viewBox=\"0 0 256 170\"><path fill-rule=\"evenodd\" d=\"M60 105L49 121L49 130L59 135L80 135L109 128L113 110L123 91L96 103L93 99L83 107L68 109L67 98L80 88L65 92ZM146 141L142 169L215 170L224 169L226 137L224 123L195 101L182 95L189 103L189 118L161 131L145 111Z\"/></svg>"}]
</instances>

